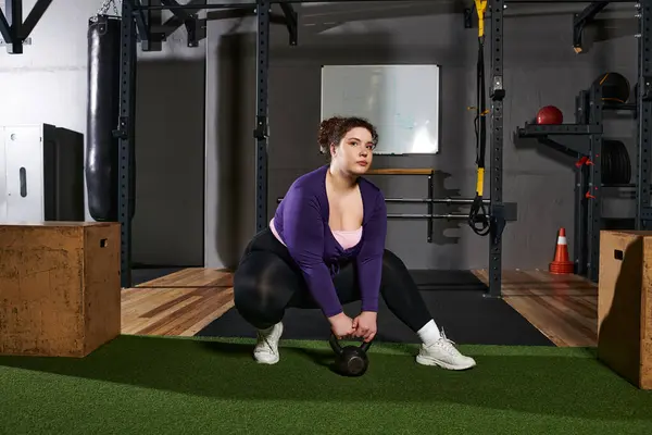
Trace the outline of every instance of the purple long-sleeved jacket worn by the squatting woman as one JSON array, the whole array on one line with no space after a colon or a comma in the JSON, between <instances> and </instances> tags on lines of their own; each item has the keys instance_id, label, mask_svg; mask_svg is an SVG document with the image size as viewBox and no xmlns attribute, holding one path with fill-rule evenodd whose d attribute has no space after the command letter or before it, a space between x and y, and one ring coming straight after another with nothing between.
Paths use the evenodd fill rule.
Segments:
<instances>
[{"instance_id":1,"label":"purple long-sleeved jacket worn by the squatting woman","mask_svg":"<svg viewBox=\"0 0 652 435\"><path fill-rule=\"evenodd\" d=\"M339 264L354 259L359 271L362 311L378 311L387 208L380 189L360 177L364 216L362 238L343 249L328 226L326 173L322 166L297 178L276 209L274 227L303 271L311 295L327 318L342 312L333 276Z\"/></svg>"}]
</instances>

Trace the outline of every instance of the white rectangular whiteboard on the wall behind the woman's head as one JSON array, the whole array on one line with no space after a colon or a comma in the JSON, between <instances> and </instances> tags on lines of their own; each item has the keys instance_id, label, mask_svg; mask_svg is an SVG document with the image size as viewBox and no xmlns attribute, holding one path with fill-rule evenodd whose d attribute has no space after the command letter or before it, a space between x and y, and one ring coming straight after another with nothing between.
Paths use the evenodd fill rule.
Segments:
<instances>
[{"instance_id":1,"label":"white rectangular whiteboard on the wall behind the woman's head","mask_svg":"<svg viewBox=\"0 0 652 435\"><path fill-rule=\"evenodd\" d=\"M439 65L322 66L322 120L367 119L378 154L439 152Z\"/></svg>"}]
</instances>

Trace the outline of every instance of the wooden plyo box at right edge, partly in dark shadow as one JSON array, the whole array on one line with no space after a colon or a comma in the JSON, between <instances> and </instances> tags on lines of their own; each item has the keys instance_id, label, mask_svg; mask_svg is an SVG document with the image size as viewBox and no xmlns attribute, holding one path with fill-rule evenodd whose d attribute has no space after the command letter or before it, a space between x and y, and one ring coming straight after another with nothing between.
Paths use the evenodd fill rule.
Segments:
<instances>
[{"instance_id":1,"label":"wooden plyo box at right edge, partly in dark shadow","mask_svg":"<svg viewBox=\"0 0 652 435\"><path fill-rule=\"evenodd\" d=\"M601 232L598 358L652 389L652 232Z\"/></svg>"}]
</instances>

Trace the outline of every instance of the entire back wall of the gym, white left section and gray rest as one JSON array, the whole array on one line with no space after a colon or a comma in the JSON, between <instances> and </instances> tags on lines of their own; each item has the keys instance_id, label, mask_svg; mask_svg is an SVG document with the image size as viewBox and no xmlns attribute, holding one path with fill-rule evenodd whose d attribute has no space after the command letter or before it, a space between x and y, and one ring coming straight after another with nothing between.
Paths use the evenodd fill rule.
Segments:
<instances>
[{"instance_id":1,"label":"entire back wall of the gym, white left section and gray rest","mask_svg":"<svg viewBox=\"0 0 652 435\"><path fill-rule=\"evenodd\" d=\"M25 16L34 2L24 1ZM0 124L51 123L86 133L86 29L100 4L55 1L24 54L0 50ZM455 4L461 3L296 5L301 14L299 47L288 46L284 26L272 26L269 217L290 183L324 162L315 138L319 67L328 63L439 63L441 152L378 157L375 165L435 167L441 171L438 196L474 194L473 113L466 107L475 103L476 30L463 28ZM550 13L551 8L557 13ZM627 34L620 22L610 22L599 33L599 38L611 35L609 41L595 42L586 55L573 52L570 11L578 8L507 10L504 200L517 201L519 214L504 235L506 269L547 268L557 228L565 226L573 236L573 162L535 141L515 141L515 128L544 104L560 107L572 122L574 96L601 72L619 71L636 80L636 39L631 32L618 36ZM631 4L618 8L624 12L617 16L632 17ZM196 49L186 47L180 29L162 52L139 53L137 262L234 266L253 235L254 24L252 17L211 21L208 38ZM631 144L631 121L610 121L607 129ZM421 178L374 181L387 197L426 195ZM622 212L623 207L611 209ZM422 210L390 207L390 212ZM487 238L464 224L437 221L435 229L435 243L428 244L425 222L391 221L388 248L414 269L487 265Z\"/></svg>"}]
</instances>

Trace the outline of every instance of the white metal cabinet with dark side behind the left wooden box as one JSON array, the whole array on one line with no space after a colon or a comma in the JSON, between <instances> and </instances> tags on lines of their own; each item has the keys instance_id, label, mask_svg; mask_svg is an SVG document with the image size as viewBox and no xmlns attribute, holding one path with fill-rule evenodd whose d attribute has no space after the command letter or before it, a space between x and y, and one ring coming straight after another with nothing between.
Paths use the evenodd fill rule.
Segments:
<instances>
[{"instance_id":1,"label":"white metal cabinet with dark side behind the left wooden box","mask_svg":"<svg viewBox=\"0 0 652 435\"><path fill-rule=\"evenodd\" d=\"M84 221L83 135L49 124L0 133L0 222Z\"/></svg>"}]
</instances>

